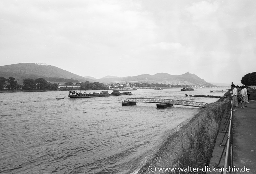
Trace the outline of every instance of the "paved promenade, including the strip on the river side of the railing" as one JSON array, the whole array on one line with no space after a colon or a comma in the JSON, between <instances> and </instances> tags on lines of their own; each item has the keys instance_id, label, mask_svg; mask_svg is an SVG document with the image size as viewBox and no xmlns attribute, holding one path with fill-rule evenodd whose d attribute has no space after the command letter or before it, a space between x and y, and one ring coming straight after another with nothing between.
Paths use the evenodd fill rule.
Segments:
<instances>
[{"instance_id":1,"label":"paved promenade, including the strip on the river side of the railing","mask_svg":"<svg viewBox=\"0 0 256 174\"><path fill-rule=\"evenodd\" d=\"M240 108L237 111L233 111L233 160L234 166L236 168L239 167L239 171L232 172L233 173L243 173L243 174L256 174L256 101L250 100L250 103L247 103L247 107L244 109ZM220 156L223 151L224 146L220 146L220 142L222 142L225 132L224 130L226 124L224 114L222 118L222 122L220 125L219 133L217 136L217 140L214 146L211 162L209 164L209 168L212 168L220 161ZM226 133L225 138L223 140L223 144L225 145L228 133ZM225 153L221 158L219 167L223 167L225 161ZM241 168L247 168L246 171L241 171ZM249 169L250 171L248 171ZM216 169L219 169L216 167ZM207 172L207 174L220 173L218 170L216 172Z\"/></svg>"}]
</instances>

